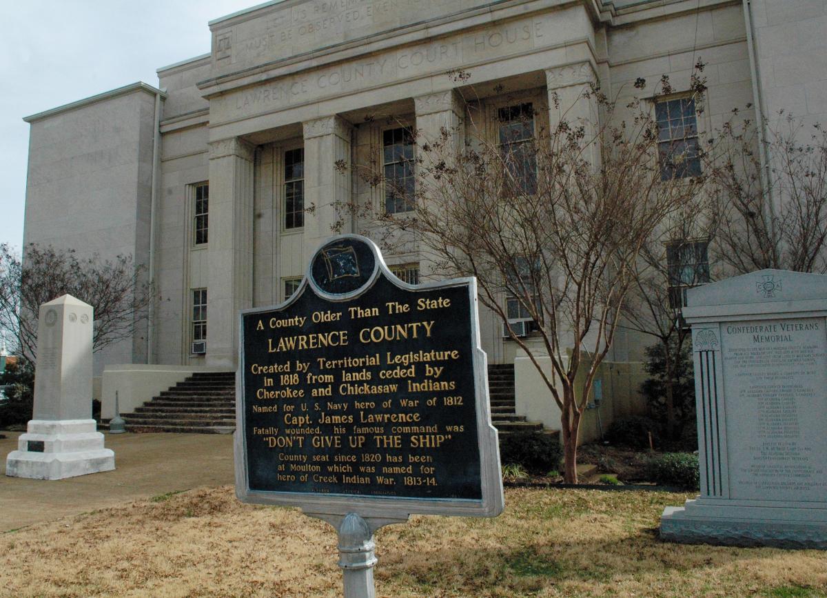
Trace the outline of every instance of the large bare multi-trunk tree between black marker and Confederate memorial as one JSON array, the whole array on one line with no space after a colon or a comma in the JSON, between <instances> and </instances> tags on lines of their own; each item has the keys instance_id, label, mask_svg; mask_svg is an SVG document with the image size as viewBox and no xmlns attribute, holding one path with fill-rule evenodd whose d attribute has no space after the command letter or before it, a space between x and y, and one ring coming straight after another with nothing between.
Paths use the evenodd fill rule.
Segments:
<instances>
[{"instance_id":1,"label":"large bare multi-trunk tree between black marker and Confederate memorial","mask_svg":"<svg viewBox=\"0 0 827 598\"><path fill-rule=\"evenodd\" d=\"M362 167L371 184L409 202L407 211L375 215L382 239L413 239L437 271L475 276L480 301L532 361L562 414L570 483L577 481L583 412L640 253L702 184L664 179L657 124L637 101L622 107L629 118L620 120L599 89L582 99L611 124L597 125L596 114L586 121L562 113L550 130L526 135L509 114L514 126L496 140L458 143L463 131L447 128L435 139L415 134L413 189ZM533 320L530 338L509 323L509 308Z\"/></svg>"}]
</instances>

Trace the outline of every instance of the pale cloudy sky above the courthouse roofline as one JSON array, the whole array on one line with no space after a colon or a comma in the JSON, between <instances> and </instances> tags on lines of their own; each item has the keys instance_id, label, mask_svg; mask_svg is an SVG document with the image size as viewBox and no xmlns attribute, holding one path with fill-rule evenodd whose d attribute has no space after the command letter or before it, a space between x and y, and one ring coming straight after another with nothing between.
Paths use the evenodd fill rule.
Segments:
<instances>
[{"instance_id":1,"label":"pale cloudy sky above the courthouse roofline","mask_svg":"<svg viewBox=\"0 0 827 598\"><path fill-rule=\"evenodd\" d=\"M24 116L135 81L210 50L207 22L263 0L2 0L0 243L20 248L29 125Z\"/></svg>"}]
</instances>

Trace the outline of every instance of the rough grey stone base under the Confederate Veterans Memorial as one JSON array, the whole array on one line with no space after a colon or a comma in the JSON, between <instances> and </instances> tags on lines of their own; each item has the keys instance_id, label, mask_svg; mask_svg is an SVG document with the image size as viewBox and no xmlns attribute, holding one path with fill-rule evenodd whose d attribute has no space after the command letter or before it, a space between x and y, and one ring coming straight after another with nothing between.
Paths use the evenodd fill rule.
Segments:
<instances>
[{"instance_id":1,"label":"rough grey stone base under the Confederate Veterans Memorial","mask_svg":"<svg viewBox=\"0 0 827 598\"><path fill-rule=\"evenodd\" d=\"M705 504L687 500L666 507L661 539L683 544L827 549L827 509L761 504Z\"/></svg>"}]
</instances>

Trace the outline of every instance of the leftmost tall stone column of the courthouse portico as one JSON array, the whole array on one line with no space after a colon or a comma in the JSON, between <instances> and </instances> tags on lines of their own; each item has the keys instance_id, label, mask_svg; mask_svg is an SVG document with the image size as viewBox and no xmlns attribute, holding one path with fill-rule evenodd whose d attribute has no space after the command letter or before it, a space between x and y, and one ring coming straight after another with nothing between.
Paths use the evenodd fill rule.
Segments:
<instances>
[{"instance_id":1,"label":"leftmost tall stone column of the courthouse portico","mask_svg":"<svg viewBox=\"0 0 827 598\"><path fill-rule=\"evenodd\" d=\"M237 365L238 312L252 306L254 154L237 137L209 144L209 365Z\"/></svg>"}]
</instances>

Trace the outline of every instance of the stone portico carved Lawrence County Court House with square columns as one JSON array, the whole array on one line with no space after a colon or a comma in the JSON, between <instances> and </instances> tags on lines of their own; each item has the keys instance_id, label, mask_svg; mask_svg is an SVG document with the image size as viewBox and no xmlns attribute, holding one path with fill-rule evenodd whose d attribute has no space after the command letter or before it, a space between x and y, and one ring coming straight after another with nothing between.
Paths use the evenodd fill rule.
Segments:
<instances>
[{"instance_id":1,"label":"stone portico carved Lawrence County Court House with square columns","mask_svg":"<svg viewBox=\"0 0 827 598\"><path fill-rule=\"evenodd\" d=\"M274 2L210 23L208 76L197 82L209 106L207 364L234 363L237 312L283 301L283 282L304 273L334 225L370 228L337 205L385 209L382 190L343 167L365 166L385 131L491 135L492 110L509 101L542 109L536 124L547 127L561 110L587 102L582 88L598 80L585 4L428 2L428 22L420 20L421 2L390 4ZM549 94L565 105L549 103ZM596 113L590 105L575 111ZM298 148L302 199L313 210L303 226L285 228L284 152ZM268 217L269 225L259 224ZM258 239L264 235L271 238ZM415 250L401 257L418 276L432 273ZM486 350L501 354L498 326L490 314L483 321Z\"/></svg>"}]
</instances>

